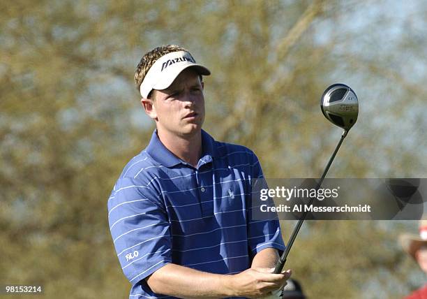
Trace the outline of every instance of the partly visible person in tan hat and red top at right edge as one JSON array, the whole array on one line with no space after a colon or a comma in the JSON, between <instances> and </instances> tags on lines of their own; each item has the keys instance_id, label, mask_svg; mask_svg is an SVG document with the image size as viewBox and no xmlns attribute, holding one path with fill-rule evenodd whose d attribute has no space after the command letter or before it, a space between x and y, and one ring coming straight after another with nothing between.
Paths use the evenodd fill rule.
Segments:
<instances>
[{"instance_id":1,"label":"partly visible person in tan hat and red top at right edge","mask_svg":"<svg viewBox=\"0 0 427 299\"><path fill-rule=\"evenodd\" d=\"M400 244L407 254L417 261L421 270L427 273L427 220L422 219L419 222L419 236L405 233L400 236ZM405 299L427 299L427 285Z\"/></svg>"}]
</instances>

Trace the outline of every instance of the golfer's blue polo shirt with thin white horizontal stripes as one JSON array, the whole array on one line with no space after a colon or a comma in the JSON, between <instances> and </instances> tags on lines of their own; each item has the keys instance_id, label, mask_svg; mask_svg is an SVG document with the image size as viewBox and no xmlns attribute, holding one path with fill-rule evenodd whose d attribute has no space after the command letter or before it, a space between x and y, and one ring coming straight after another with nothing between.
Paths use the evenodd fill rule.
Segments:
<instances>
[{"instance_id":1,"label":"golfer's blue polo shirt with thin white horizontal stripes","mask_svg":"<svg viewBox=\"0 0 427 299\"><path fill-rule=\"evenodd\" d=\"M108 199L108 220L130 298L153 293L145 278L167 263L217 274L250 268L262 249L285 246L278 220L251 219L250 182L262 177L257 156L202 131L197 167L177 158L156 131L129 161Z\"/></svg>"}]
</instances>

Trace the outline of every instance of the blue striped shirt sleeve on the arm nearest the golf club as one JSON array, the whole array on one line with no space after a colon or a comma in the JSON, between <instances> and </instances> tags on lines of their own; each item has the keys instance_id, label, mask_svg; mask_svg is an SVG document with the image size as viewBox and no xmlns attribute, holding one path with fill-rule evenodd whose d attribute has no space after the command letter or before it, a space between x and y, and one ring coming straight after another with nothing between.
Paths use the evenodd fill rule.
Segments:
<instances>
[{"instance_id":1,"label":"blue striped shirt sleeve on the arm nearest the golf club","mask_svg":"<svg viewBox=\"0 0 427 299\"><path fill-rule=\"evenodd\" d=\"M255 179L263 178L262 168L260 166L260 161L257 159L257 156L253 154L253 161L251 163L251 174L250 182L254 182ZM252 193L252 188L250 187L250 193ZM262 249L266 248L276 248L279 251L279 254L285 250L285 244L283 243L283 238L280 230L280 223L278 217L271 220L256 220L253 219L251 212L252 203L249 198L249 211L248 211L248 246L250 255L253 258L255 254L260 252Z\"/></svg>"}]
</instances>

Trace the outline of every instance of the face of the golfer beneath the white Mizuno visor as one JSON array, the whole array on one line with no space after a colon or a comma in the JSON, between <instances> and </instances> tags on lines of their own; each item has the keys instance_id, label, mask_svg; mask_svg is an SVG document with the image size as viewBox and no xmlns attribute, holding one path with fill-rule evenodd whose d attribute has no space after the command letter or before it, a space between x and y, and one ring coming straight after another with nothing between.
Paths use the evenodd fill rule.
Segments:
<instances>
[{"instance_id":1,"label":"face of the golfer beneath the white Mizuno visor","mask_svg":"<svg viewBox=\"0 0 427 299\"><path fill-rule=\"evenodd\" d=\"M186 68L167 89L153 90L152 111L158 133L192 136L204 122L203 83L199 74ZM146 108L147 111L147 108Z\"/></svg>"}]
</instances>

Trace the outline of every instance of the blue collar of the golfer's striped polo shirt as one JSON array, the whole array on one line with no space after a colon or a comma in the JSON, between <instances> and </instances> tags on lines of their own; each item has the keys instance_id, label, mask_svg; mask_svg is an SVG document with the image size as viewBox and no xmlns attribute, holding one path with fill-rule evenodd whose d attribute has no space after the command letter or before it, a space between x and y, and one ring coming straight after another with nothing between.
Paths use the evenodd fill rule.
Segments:
<instances>
[{"instance_id":1,"label":"blue collar of the golfer's striped polo shirt","mask_svg":"<svg viewBox=\"0 0 427 299\"><path fill-rule=\"evenodd\" d=\"M157 130L153 131L153 135L151 136L151 140L146 151L151 158L165 167L173 167L179 163L184 163L181 159L172 154L165 145L163 145L158 138ZM199 160L199 166L211 162L215 156L217 156L215 140L207 132L202 130L202 156Z\"/></svg>"}]
</instances>

